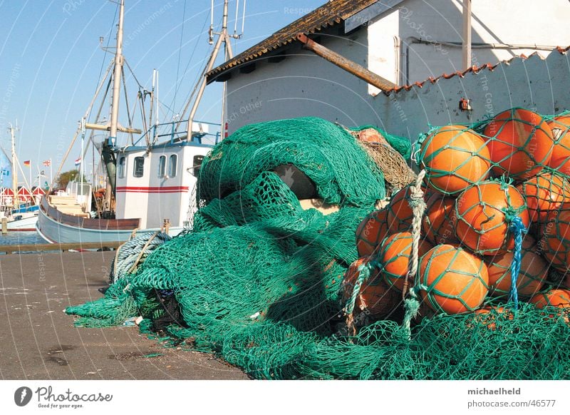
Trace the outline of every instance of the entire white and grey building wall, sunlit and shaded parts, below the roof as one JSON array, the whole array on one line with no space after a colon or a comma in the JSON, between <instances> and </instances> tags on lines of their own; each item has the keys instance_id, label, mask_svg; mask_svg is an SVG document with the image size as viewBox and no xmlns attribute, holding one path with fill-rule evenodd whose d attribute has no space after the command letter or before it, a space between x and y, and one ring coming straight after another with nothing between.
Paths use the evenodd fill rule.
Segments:
<instances>
[{"instance_id":1,"label":"entire white and grey building wall, sunlit and shaded parts, below the roof","mask_svg":"<svg viewBox=\"0 0 570 415\"><path fill-rule=\"evenodd\" d=\"M391 80L398 68L393 36L402 41L408 39L410 79L425 81L429 76L436 78L457 71L461 49L450 47L444 54L444 46L409 43L410 37L429 35L427 39L435 41L460 42L461 9L455 0L408 0L398 10L381 15L385 21L373 21L353 32L350 39L321 36L318 41L363 66L370 65L373 71ZM570 3L566 0L477 0L472 2L472 11L475 43L570 45L566 29ZM405 20L404 16L408 18ZM412 21L415 26L410 24ZM410 91L390 96L373 96L374 88L364 81L300 46L294 47L284 61L262 61L251 73L234 71L227 83L229 133L249 123L318 116L347 126L374 124L388 133L415 140L429 129L429 124L480 121L513 106L536 108L540 113L570 109L569 57L558 51L550 55L544 52L544 56L549 56L546 61L537 56L515 59L494 71L485 69L477 75L440 78L433 84L427 81L422 88L414 86ZM400 48L400 79L406 70L404 49ZM497 63L515 54L505 50L474 51L473 63L477 66ZM471 113L459 111L460 98L472 100Z\"/></svg>"}]
</instances>

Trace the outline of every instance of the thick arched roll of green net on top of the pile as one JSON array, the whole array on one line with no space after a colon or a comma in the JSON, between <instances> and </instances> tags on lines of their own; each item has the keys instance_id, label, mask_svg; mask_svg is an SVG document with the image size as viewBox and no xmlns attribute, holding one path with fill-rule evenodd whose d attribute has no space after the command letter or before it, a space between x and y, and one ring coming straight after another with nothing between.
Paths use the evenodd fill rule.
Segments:
<instances>
[{"instance_id":1,"label":"thick arched roll of green net on top of the pile","mask_svg":"<svg viewBox=\"0 0 570 415\"><path fill-rule=\"evenodd\" d=\"M387 135L410 152L408 140ZM296 118L247 125L217 145L200 168L198 193L209 202L224 198L280 165L295 165L326 203L369 206L385 198L383 175L361 145L340 125Z\"/></svg>"}]
</instances>

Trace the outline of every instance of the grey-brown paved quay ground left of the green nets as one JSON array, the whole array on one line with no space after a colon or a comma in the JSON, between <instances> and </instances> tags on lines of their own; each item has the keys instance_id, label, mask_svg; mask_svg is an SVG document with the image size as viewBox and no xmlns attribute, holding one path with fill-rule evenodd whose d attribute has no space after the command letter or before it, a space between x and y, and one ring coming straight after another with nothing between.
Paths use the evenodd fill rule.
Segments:
<instances>
[{"instance_id":1,"label":"grey-brown paved quay ground left of the green nets","mask_svg":"<svg viewBox=\"0 0 570 415\"><path fill-rule=\"evenodd\" d=\"M0 379L247 379L208 354L162 347L138 327L74 327L63 309L101 297L113 255L1 256Z\"/></svg>"}]
</instances>

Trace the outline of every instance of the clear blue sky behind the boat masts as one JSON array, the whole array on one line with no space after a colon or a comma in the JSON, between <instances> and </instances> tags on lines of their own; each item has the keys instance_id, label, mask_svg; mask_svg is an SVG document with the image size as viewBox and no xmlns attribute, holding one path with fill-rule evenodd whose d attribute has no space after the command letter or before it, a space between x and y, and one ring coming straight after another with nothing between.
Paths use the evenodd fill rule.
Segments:
<instances>
[{"instance_id":1,"label":"clear blue sky behind the boat masts","mask_svg":"<svg viewBox=\"0 0 570 415\"><path fill-rule=\"evenodd\" d=\"M234 53L324 2L247 1L245 32L232 44ZM239 3L241 8L243 0ZM214 4L215 25L221 21L223 1ZM210 0L125 2L125 58L149 89L152 69L160 71L162 121L172 118L166 106L182 111L204 68L211 47L207 43L209 6ZM235 6L236 0L230 0L231 32ZM53 160L55 174L56 160L63 158L88 108L101 68L105 71L112 58L100 49L99 37L114 45L117 9L109 0L0 0L0 144L9 151L8 123L17 120L16 153L21 162L31 160L34 174L35 166L48 158ZM134 86L130 79L130 100L135 98ZM198 120L219 122L221 91L217 83L207 87ZM120 122L127 123L125 111ZM79 145L73 148L64 170L73 168L80 151Z\"/></svg>"}]
</instances>

